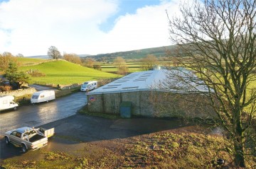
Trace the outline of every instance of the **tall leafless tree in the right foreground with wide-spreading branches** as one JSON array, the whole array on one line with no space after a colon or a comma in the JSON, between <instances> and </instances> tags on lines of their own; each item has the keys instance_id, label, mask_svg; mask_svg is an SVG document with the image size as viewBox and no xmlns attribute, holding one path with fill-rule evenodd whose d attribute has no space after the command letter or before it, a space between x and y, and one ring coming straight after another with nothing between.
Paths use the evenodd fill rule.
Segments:
<instances>
[{"instance_id":1,"label":"tall leafless tree in the right foreground with wide-spreading branches","mask_svg":"<svg viewBox=\"0 0 256 169\"><path fill-rule=\"evenodd\" d=\"M202 94L230 138L235 165L244 168L256 138L256 1L193 1L180 11L181 17L169 18L176 58L208 86Z\"/></svg>"}]
</instances>

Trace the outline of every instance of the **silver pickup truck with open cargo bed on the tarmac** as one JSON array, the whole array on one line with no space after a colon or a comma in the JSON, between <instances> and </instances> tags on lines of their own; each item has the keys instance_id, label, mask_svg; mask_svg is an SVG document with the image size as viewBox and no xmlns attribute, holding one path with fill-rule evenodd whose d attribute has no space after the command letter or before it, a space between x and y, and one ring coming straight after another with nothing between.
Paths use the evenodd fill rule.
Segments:
<instances>
[{"instance_id":1,"label":"silver pickup truck with open cargo bed on the tarmac","mask_svg":"<svg viewBox=\"0 0 256 169\"><path fill-rule=\"evenodd\" d=\"M26 153L30 149L36 150L46 146L48 144L48 137L53 136L53 134L54 128L46 130L43 128L21 127L6 132L4 139L6 145L14 144L21 147L23 153Z\"/></svg>"}]
</instances>

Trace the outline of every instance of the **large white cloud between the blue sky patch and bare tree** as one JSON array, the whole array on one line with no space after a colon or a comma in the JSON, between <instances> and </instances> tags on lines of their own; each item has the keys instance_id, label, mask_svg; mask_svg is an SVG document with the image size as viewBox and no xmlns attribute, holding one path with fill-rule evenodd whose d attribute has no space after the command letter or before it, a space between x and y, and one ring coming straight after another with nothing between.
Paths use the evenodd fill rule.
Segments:
<instances>
[{"instance_id":1,"label":"large white cloud between the blue sky patch and bare tree","mask_svg":"<svg viewBox=\"0 0 256 169\"><path fill-rule=\"evenodd\" d=\"M132 15L120 16L100 43L102 50L115 52L171 45L167 9L173 14L178 11L178 4L163 2L159 6L139 8Z\"/></svg>"}]
</instances>

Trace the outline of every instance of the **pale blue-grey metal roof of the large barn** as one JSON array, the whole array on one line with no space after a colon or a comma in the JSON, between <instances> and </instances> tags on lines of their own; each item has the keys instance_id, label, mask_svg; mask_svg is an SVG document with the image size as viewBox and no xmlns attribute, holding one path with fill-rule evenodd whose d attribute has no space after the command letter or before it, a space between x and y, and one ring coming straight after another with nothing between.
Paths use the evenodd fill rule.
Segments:
<instances>
[{"instance_id":1,"label":"pale blue-grey metal roof of the large barn","mask_svg":"<svg viewBox=\"0 0 256 169\"><path fill-rule=\"evenodd\" d=\"M182 81L179 79L180 77L183 77ZM189 88L192 87L198 88L199 91L205 91L208 89L204 85L198 86L198 83L193 83L193 81L191 81L192 78L199 81L197 76L188 70L181 71L178 69L161 69L140 71L119 78L116 81L112 81L105 86L97 88L94 91L90 91L87 95L152 90L181 92L185 89L186 91L191 90Z\"/></svg>"}]
</instances>

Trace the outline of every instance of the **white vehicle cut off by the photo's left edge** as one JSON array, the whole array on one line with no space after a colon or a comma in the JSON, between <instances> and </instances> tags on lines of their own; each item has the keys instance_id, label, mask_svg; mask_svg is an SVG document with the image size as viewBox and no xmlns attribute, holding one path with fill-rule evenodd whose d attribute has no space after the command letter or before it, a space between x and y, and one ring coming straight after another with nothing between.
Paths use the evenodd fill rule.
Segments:
<instances>
[{"instance_id":1,"label":"white vehicle cut off by the photo's left edge","mask_svg":"<svg viewBox=\"0 0 256 169\"><path fill-rule=\"evenodd\" d=\"M0 95L0 111L7 109L16 110L18 104L14 102L14 96L12 95Z\"/></svg>"}]
</instances>

